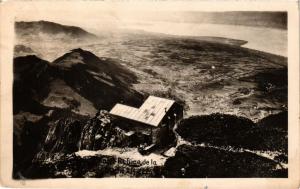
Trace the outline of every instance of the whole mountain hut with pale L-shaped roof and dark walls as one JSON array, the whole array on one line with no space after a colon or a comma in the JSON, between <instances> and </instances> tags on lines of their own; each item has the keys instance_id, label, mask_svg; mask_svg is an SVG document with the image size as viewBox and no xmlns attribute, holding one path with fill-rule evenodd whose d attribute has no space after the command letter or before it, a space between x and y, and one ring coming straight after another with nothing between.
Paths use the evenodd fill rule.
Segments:
<instances>
[{"instance_id":1,"label":"whole mountain hut with pale L-shaped roof and dark walls","mask_svg":"<svg viewBox=\"0 0 300 189\"><path fill-rule=\"evenodd\" d=\"M122 129L148 135L152 144L161 144L182 119L183 107L174 100L149 96L139 108L116 104L110 114Z\"/></svg>"}]
</instances>

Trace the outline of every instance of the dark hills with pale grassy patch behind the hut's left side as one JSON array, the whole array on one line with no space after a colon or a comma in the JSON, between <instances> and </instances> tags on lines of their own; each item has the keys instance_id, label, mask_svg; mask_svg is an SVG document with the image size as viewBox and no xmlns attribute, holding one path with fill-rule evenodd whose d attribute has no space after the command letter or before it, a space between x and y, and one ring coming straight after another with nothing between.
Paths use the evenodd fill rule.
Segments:
<instances>
[{"instance_id":1,"label":"dark hills with pale grassy patch behind the hut's left side","mask_svg":"<svg viewBox=\"0 0 300 189\"><path fill-rule=\"evenodd\" d=\"M109 110L117 102L139 105L142 100L131 89L136 81L133 73L117 61L100 59L82 49L75 49L54 63L34 55L15 58L14 77L15 113L32 109L33 101L93 115L96 109Z\"/></svg>"}]
</instances>

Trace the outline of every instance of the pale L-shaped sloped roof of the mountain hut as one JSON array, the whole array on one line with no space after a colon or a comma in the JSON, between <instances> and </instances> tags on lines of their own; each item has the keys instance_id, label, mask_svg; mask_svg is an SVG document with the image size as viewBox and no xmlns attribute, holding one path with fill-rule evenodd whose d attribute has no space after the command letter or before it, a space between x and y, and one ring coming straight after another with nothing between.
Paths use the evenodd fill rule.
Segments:
<instances>
[{"instance_id":1,"label":"pale L-shaped sloped roof of the mountain hut","mask_svg":"<svg viewBox=\"0 0 300 189\"><path fill-rule=\"evenodd\" d=\"M174 103L174 100L149 96L140 108L116 104L110 113L148 125L158 126Z\"/></svg>"}]
</instances>

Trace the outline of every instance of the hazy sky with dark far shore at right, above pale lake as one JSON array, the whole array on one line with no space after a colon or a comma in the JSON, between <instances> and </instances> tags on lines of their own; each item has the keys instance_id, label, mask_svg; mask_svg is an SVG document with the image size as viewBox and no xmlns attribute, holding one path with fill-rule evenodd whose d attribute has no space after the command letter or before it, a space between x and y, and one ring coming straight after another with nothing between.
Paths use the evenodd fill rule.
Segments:
<instances>
[{"instance_id":1,"label":"hazy sky with dark far shore at right, above pale lake","mask_svg":"<svg viewBox=\"0 0 300 189\"><path fill-rule=\"evenodd\" d=\"M20 14L17 20L48 20L86 28L119 27L128 23L176 22L245 25L285 29L284 12L195 12L195 11L63 11L61 14Z\"/></svg>"}]
</instances>

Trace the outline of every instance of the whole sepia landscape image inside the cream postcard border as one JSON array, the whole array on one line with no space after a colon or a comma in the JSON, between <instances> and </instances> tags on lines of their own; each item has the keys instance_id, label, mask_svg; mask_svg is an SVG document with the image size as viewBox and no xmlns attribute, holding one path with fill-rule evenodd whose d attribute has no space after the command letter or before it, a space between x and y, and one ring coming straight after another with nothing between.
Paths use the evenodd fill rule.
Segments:
<instances>
[{"instance_id":1,"label":"whole sepia landscape image inside the cream postcard border","mask_svg":"<svg viewBox=\"0 0 300 189\"><path fill-rule=\"evenodd\" d=\"M13 178L287 178L287 17L17 17Z\"/></svg>"}]
</instances>

